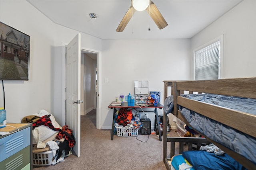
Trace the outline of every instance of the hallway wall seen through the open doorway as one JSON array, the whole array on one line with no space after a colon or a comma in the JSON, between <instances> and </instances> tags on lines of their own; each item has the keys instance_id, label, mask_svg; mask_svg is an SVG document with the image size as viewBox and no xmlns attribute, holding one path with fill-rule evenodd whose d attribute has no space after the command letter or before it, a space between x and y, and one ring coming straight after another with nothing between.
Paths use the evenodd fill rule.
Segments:
<instances>
[{"instance_id":1,"label":"hallway wall seen through the open doorway","mask_svg":"<svg viewBox=\"0 0 256 170\"><path fill-rule=\"evenodd\" d=\"M97 58L97 53L81 50L81 115L97 110Z\"/></svg>"}]
</instances>

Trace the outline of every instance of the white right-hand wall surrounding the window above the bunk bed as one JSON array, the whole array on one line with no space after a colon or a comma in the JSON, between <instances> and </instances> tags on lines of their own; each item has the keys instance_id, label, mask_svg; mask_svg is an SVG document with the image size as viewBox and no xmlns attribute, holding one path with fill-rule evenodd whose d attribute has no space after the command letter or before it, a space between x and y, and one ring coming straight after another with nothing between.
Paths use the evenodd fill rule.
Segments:
<instances>
[{"instance_id":1,"label":"white right-hand wall surrounding the window above the bunk bed","mask_svg":"<svg viewBox=\"0 0 256 170\"><path fill-rule=\"evenodd\" d=\"M191 39L191 50L222 34L224 35L223 78L256 76L256 1L242 1L195 35ZM191 61L193 64L193 59Z\"/></svg>"}]
</instances>

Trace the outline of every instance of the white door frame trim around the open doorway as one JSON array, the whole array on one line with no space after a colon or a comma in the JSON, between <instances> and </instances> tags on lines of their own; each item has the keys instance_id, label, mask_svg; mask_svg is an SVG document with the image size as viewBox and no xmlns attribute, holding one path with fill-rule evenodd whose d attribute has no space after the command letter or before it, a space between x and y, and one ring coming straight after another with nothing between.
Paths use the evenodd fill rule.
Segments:
<instances>
[{"instance_id":1,"label":"white door frame trim around the open doorway","mask_svg":"<svg viewBox=\"0 0 256 170\"><path fill-rule=\"evenodd\" d=\"M66 123L66 46L68 43L62 43L62 124ZM97 55L97 100L96 100L96 128L101 129L101 86L100 86L100 59L101 51L81 46L81 51L94 53Z\"/></svg>"}]
</instances>

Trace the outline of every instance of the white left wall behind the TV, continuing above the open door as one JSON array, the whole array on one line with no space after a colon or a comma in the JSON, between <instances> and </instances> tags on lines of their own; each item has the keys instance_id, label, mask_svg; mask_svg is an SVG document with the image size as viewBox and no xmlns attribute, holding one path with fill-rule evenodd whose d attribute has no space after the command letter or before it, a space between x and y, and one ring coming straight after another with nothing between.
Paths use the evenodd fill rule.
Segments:
<instances>
[{"instance_id":1,"label":"white left wall behind the TV, continuing above the open door","mask_svg":"<svg viewBox=\"0 0 256 170\"><path fill-rule=\"evenodd\" d=\"M30 77L28 81L4 80L8 122L46 109L60 125L65 123L65 73L62 43L77 31L54 24L26 0L0 0L0 21L30 35ZM101 39L81 33L81 46L100 51ZM2 82L0 83L2 89ZM3 107L0 90L0 106Z\"/></svg>"}]
</instances>

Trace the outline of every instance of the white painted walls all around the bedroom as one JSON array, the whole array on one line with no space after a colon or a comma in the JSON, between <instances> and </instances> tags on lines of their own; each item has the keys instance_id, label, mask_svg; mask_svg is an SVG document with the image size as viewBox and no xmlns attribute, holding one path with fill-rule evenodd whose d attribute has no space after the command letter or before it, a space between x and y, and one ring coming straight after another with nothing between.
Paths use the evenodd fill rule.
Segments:
<instances>
[{"instance_id":1,"label":"white painted walls all around the bedroom","mask_svg":"<svg viewBox=\"0 0 256 170\"><path fill-rule=\"evenodd\" d=\"M256 1L243 1L191 41L101 40L82 33L82 47L102 51L98 80L102 127L111 127L110 102L121 92L126 95L133 92L134 80L149 80L149 90L163 93L163 80L190 79L192 50L221 34L224 34L224 78L255 76L255 16ZM62 43L68 43L78 32L52 23L26 0L0 0L0 21L30 35L30 80L4 80L7 121L20 122L22 117L46 109L64 125ZM104 83L104 78L109 83ZM2 98L0 90L1 107Z\"/></svg>"}]
</instances>

